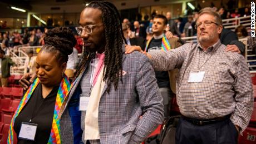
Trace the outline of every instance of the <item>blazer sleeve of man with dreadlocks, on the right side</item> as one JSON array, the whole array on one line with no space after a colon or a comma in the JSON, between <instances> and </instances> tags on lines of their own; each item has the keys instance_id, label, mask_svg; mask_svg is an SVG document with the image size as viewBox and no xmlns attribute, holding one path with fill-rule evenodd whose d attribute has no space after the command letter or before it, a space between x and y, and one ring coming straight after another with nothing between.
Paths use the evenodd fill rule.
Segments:
<instances>
[{"instance_id":1,"label":"blazer sleeve of man with dreadlocks, on the right side","mask_svg":"<svg viewBox=\"0 0 256 144\"><path fill-rule=\"evenodd\" d=\"M164 105L150 60L142 55L137 69L136 91L143 115L129 143L141 143L164 121Z\"/></svg>"}]
</instances>

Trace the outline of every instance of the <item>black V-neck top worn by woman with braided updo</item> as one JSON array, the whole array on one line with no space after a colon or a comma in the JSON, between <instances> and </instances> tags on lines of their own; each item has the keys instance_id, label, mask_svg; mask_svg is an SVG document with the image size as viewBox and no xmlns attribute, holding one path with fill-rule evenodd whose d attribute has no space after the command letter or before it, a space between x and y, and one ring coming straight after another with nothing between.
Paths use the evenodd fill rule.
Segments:
<instances>
[{"instance_id":1,"label":"black V-neck top worn by woman with braided updo","mask_svg":"<svg viewBox=\"0 0 256 144\"><path fill-rule=\"evenodd\" d=\"M43 98L42 96L41 83L36 87L32 96L17 116L13 127L14 131L17 133L18 138L19 130L21 129L21 123L29 122L31 119L31 123L37 124L35 141L18 138L18 144L45 144L48 142L52 128L53 112L55 108L58 87L59 86L54 87L46 98Z\"/></svg>"}]
</instances>

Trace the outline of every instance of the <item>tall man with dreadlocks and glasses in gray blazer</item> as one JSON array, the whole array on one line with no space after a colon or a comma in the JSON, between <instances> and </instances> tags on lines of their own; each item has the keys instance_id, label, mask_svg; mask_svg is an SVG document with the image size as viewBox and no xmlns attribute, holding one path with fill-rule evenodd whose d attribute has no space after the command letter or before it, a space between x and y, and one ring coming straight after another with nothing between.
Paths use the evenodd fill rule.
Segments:
<instances>
[{"instance_id":1,"label":"tall man with dreadlocks and glasses in gray blazer","mask_svg":"<svg viewBox=\"0 0 256 144\"><path fill-rule=\"evenodd\" d=\"M139 52L124 54L114 4L91 2L79 23L85 50L60 110L62 143L79 143L81 137L84 143L141 143L164 119L149 59Z\"/></svg>"}]
</instances>

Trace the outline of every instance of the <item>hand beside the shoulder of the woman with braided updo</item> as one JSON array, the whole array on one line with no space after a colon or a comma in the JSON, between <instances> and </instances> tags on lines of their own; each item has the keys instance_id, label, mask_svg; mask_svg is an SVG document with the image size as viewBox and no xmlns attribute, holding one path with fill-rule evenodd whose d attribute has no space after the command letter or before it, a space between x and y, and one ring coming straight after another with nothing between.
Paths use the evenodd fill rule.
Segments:
<instances>
[{"instance_id":1,"label":"hand beside the shoulder of the woman with braided updo","mask_svg":"<svg viewBox=\"0 0 256 144\"><path fill-rule=\"evenodd\" d=\"M19 86L21 86L24 90L27 90L29 85L36 79L36 73L25 73L21 80L19 80Z\"/></svg>"}]
</instances>

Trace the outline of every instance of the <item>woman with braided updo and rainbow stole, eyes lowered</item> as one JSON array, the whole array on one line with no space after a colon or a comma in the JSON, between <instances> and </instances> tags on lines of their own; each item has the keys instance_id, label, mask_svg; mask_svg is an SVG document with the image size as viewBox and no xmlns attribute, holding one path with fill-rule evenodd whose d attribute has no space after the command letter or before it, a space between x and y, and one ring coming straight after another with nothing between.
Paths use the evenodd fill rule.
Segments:
<instances>
[{"instance_id":1,"label":"woman with braided updo and rainbow stole, eyes lowered","mask_svg":"<svg viewBox=\"0 0 256 144\"><path fill-rule=\"evenodd\" d=\"M63 100L70 90L64 74L68 55L76 39L67 27L46 33L45 45L36 58L37 78L24 93L11 121L8 143L61 143L57 118Z\"/></svg>"}]
</instances>

